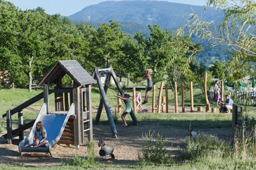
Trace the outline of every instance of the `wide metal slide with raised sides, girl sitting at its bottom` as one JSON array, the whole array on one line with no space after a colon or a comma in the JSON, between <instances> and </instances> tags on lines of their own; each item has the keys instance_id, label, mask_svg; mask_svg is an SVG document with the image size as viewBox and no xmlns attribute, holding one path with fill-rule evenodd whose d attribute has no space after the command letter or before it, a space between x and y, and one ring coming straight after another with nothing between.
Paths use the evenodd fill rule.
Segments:
<instances>
[{"instance_id":1,"label":"wide metal slide with raised sides, girl sitting at its bottom","mask_svg":"<svg viewBox=\"0 0 256 170\"><path fill-rule=\"evenodd\" d=\"M51 148L53 145L55 145L64 129L66 126L66 123L69 119L70 115L73 115L75 112L75 108L74 108L74 104L72 103L69 111L66 114L59 114L59 113L49 113L46 114L46 104L44 103L37 115L37 119L35 120L35 123L31 129L31 132L29 133L29 135L26 137L26 139L22 140L19 143L19 151L20 154L22 155L22 152L46 152L46 153L50 153L51 157L52 157L52 153L51 153ZM38 121L43 122L44 124L44 128L46 129L47 132L47 138L46 140L48 140L48 143L44 146L41 147L24 147L26 144L31 144L34 141L34 133L36 130L36 123Z\"/></svg>"}]
</instances>

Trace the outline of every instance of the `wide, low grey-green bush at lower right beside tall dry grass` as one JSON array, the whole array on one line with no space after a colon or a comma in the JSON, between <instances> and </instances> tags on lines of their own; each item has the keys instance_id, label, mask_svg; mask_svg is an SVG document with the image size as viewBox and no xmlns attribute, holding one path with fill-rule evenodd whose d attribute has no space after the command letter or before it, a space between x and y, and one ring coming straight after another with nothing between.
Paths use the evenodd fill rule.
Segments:
<instances>
[{"instance_id":1,"label":"wide, low grey-green bush at lower right beside tall dry grass","mask_svg":"<svg viewBox=\"0 0 256 170\"><path fill-rule=\"evenodd\" d=\"M206 156L211 151L229 149L224 140L211 134L199 133L195 137L186 137L179 148L180 158L183 160L197 159Z\"/></svg>"}]
</instances>

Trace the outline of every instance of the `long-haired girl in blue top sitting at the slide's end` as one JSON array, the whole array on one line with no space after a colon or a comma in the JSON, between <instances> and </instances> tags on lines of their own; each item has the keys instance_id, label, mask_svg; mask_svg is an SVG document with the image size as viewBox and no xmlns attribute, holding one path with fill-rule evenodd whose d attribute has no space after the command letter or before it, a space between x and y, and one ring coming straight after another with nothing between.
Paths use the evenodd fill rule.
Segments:
<instances>
[{"instance_id":1,"label":"long-haired girl in blue top sitting at the slide's end","mask_svg":"<svg viewBox=\"0 0 256 170\"><path fill-rule=\"evenodd\" d=\"M39 121L37 122L37 125L36 125L36 131L34 134L34 143L27 144L25 145L25 147L34 146L34 148L36 148L36 147L43 146L46 143L48 143L48 141L45 140L46 137L47 137L47 133L46 133L46 130L44 129L44 124L43 122Z\"/></svg>"}]
</instances>

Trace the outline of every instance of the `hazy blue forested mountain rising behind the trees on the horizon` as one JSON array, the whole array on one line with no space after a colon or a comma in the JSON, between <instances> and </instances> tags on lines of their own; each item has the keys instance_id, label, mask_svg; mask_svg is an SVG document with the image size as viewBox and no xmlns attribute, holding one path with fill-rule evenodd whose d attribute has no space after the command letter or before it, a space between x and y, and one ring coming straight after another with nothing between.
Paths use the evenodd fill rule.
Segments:
<instances>
[{"instance_id":1,"label":"hazy blue forested mountain rising behind the trees on the horizon","mask_svg":"<svg viewBox=\"0 0 256 170\"><path fill-rule=\"evenodd\" d=\"M223 19L222 12L208 7L204 12L204 6L173 3L167 1L105 1L96 5L85 7L73 15L67 16L74 24L79 22L91 23L98 28L100 23L108 23L111 19L121 23L120 28L127 34L134 35L141 32L144 36L150 34L148 25L160 24L162 29L175 31L183 27L190 18L189 14L197 13L205 21L214 20L216 23ZM62 16L63 17L63 16ZM194 42L200 42L193 38ZM207 41L202 41L202 45ZM223 47L216 47L197 55L197 63L203 62L206 67L211 66L218 59L228 60L229 56Z\"/></svg>"}]
</instances>

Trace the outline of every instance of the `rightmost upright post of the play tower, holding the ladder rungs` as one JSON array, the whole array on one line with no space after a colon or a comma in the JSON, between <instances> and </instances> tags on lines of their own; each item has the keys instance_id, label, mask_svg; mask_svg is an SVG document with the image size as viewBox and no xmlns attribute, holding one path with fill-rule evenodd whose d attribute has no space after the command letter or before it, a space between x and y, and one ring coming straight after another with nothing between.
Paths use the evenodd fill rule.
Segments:
<instances>
[{"instance_id":1,"label":"rightmost upright post of the play tower, holding the ladder rungs","mask_svg":"<svg viewBox=\"0 0 256 170\"><path fill-rule=\"evenodd\" d=\"M93 131L92 131L92 105L91 105L91 85L87 85L88 86L88 89L87 89L87 111L89 111L87 113L87 120L90 120L88 122L88 129L90 129L88 131L88 140L91 141L93 140Z\"/></svg>"}]
</instances>

